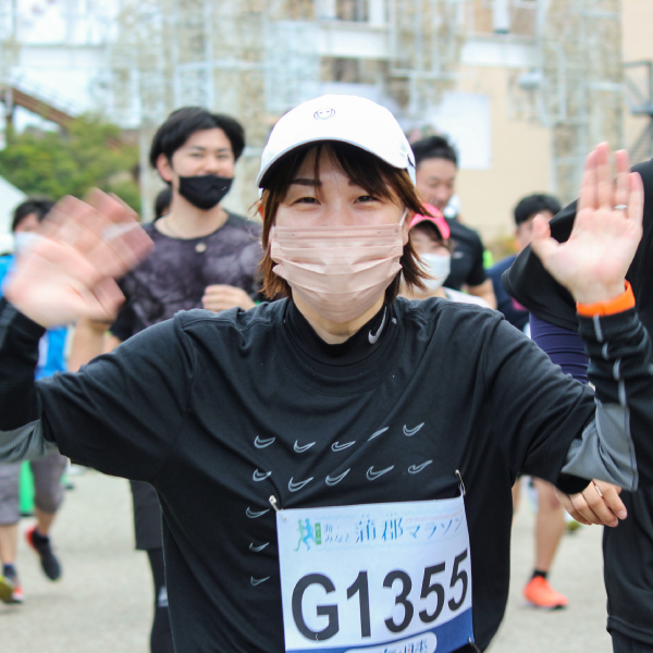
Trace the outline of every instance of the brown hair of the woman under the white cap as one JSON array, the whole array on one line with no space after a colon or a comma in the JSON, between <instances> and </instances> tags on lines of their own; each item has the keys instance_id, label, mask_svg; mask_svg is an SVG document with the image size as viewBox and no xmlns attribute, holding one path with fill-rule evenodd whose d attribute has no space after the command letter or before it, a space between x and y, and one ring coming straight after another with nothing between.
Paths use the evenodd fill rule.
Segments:
<instances>
[{"instance_id":1,"label":"brown hair of the woman under the white cap","mask_svg":"<svg viewBox=\"0 0 653 653\"><path fill-rule=\"evenodd\" d=\"M270 256L270 230L274 224L279 205L283 201L291 187L297 171L310 151L316 152L316 178L319 177L319 162L322 152L329 152L341 167L342 171L358 186L365 188L370 195L393 199L394 195L409 211L421 215L429 214L428 210L417 196L417 190L405 170L393 168L374 155L359 147L334 140L310 143L300 146L281 159L268 171L263 178L263 192L260 208L263 214L263 259L259 271L263 282L262 291L267 297L280 298L291 296L291 286L272 269L275 263ZM419 257L410 244L410 238L404 246L399 259L402 271L385 289L385 301L390 303L399 294L402 276L409 287L426 289L422 279L428 279L428 273L421 268Z\"/></svg>"}]
</instances>

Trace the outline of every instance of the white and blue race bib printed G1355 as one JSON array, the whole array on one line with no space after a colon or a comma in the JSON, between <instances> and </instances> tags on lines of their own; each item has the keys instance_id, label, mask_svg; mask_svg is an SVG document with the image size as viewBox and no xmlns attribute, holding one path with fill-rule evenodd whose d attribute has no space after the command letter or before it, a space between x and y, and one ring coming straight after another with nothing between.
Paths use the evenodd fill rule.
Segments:
<instances>
[{"instance_id":1,"label":"white and blue race bib printed G1355","mask_svg":"<svg viewBox=\"0 0 653 653\"><path fill-rule=\"evenodd\" d=\"M276 514L285 650L448 653L473 640L463 497Z\"/></svg>"}]
</instances>

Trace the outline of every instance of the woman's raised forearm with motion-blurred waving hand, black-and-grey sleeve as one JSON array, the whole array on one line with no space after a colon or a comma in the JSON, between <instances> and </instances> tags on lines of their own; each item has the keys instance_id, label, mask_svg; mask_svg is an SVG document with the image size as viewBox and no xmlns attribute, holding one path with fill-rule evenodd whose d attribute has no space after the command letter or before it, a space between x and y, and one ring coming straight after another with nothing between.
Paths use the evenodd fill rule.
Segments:
<instances>
[{"instance_id":1,"label":"woman's raised forearm with motion-blurred waving hand, black-and-grey sleeve","mask_svg":"<svg viewBox=\"0 0 653 653\"><path fill-rule=\"evenodd\" d=\"M37 234L38 241L17 258L0 300L3 460L38 457L54 447L47 439L42 398L34 381L44 328L111 316L122 300L114 278L135 266L151 245L133 211L99 190L88 204L72 197L58 202Z\"/></svg>"}]
</instances>

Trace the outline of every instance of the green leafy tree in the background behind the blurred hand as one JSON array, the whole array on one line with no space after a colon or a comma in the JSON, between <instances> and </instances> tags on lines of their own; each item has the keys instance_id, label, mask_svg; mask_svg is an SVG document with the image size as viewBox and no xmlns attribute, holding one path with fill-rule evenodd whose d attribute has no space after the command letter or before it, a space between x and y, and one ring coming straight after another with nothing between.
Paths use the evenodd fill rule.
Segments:
<instances>
[{"instance_id":1,"label":"green leafy tree in the background behind the blurred hand","mask_svg":"<svg viewBox=\"0 0 653 653\"><path fill-rule=\"evenodd\" d=\"M60 133L10 132L0 151L0 175L27 195L83 197L97 186L138 211L137 163L138 148L124 141L120 127L90 115Z\"/></svg>"}]
</instances>

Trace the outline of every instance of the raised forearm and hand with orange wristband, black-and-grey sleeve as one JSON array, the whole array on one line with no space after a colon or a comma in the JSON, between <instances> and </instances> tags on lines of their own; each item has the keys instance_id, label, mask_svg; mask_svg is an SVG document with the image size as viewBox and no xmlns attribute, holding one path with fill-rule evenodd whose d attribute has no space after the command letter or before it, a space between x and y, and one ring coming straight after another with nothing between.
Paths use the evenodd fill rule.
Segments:
<instances>
[{"instance_id":1,"label":"raised forearm and hand with orange wristband, black-and-grey sleeve","mask_svg":"<svg viewBox=\"0 0 653 653\"><path fill-rule=\"evenodd\" d=\"M563 471L633 490L649 483L653 460L651 344L625 292L625 276L642 233L643 185L616 155L613 182L607 145L588 157L569 239L550 237L539 221L533 251L577 301L579 333L590 356L596 418L569 448Z\"/></svg>"}]
</instances>

